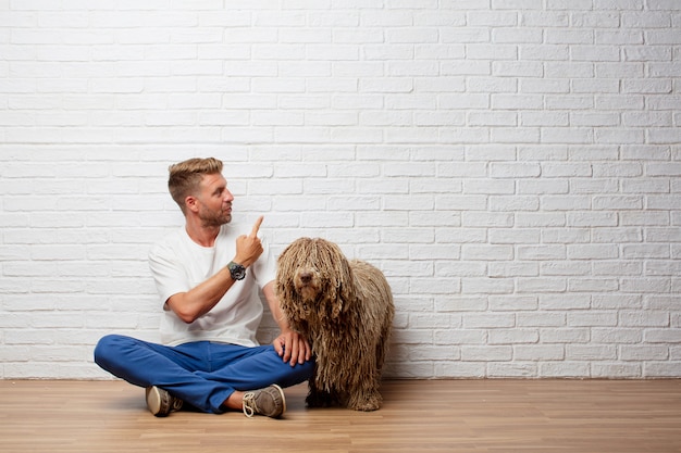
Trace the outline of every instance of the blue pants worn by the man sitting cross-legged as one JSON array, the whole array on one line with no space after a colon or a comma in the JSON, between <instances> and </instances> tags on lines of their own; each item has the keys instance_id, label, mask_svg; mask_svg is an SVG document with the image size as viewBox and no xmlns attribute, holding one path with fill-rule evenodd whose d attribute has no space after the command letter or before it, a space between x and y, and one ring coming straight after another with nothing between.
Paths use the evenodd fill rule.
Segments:
<instances>
[{"instance_id":1,"label":"blue pants worn by the man sitting cross-legged","mask_svg":"<svg viewBox=\"0 0 681 453\"><path fill-rule=\"evenodd\" d=\"M314 362L290 366L273 345L246 348L198 341L177 347L109 335L95 348L95 362L139 387L157 386L202 412L221 414L236 390L276 383L295 386L312 376Z\"/></svg>"}]
</instances>

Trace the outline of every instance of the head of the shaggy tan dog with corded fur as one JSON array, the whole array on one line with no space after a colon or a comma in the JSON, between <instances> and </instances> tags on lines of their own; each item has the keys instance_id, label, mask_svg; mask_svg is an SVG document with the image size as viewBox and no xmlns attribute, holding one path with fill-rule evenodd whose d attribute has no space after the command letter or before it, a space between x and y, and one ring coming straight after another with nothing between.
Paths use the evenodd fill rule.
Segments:
<instances>
[{"instance_id":1,"label":"head of the shaggy tan dog with corded fur","mask_svg":"<svg viewBox=\"0 0 681 453\"><path fill-rule=\"evenodd\" d=\"M295 324L337 318L354 290L347 259L333 242L300 238L280 255L276 293Z\"/></svg>"}]
</instances>

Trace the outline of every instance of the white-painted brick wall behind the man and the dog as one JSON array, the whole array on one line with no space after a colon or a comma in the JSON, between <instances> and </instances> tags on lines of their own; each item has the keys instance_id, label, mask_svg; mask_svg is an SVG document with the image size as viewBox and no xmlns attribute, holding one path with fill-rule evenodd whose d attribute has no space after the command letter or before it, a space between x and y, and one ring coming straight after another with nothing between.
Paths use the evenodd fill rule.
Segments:
<instances>
[{"instance_id":1,"label":"white-painted brick wall behind the man and the dog","mask_svg":"<svg viewBox=\"0 0 681 453\"><path fill-rule=\"evenodd\" d=\"M391 377L681 377L677 0L0 0L0 378L157 339L194 155L386 273Z\"/></svg>"}]
</instances>

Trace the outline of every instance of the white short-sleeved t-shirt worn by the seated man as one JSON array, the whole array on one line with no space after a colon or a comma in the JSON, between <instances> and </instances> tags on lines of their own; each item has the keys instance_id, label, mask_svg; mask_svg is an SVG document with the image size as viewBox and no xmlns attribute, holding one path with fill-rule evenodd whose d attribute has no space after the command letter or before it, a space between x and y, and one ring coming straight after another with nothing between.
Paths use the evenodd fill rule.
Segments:
<instances>
[{"instance_id":1,"label":"white short-sleeved t-shirt worn by the seated man","mask_svg":"<svg viewBox=\"0 0 681 453\"><path fill-rule=\"evenodd\" d=\"M165 305L171 295L189 291L226 266L236 254L236 238L250 230L250 227L244 228L223 225L214 247L201 247L182 227L151 248L149 267L163 304L163 344L220 341L245 347L258 345L256 331L263 312L258 288L262 289L276 276L276 263L264 240L264 251L248 267L246 278L236 281L210 312L194 323L183 322Z\"/></svg>"}]
</instances>

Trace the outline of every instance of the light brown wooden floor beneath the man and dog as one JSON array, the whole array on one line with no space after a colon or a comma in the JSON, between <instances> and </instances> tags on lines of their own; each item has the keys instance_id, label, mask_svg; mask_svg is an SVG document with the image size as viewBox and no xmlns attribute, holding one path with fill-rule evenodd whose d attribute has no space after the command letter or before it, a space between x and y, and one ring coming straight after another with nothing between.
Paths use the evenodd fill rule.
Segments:
<instances>
[{"instance_id":1,"label":"light brown wooden floor beneath the man and dog","mask_svg":"<svg viewBox=\"0 0 681 453\"><path fill-rule=\"evenodd\" d=\"M681 380L387 381L374 413L147 412L121 381L0 380L0 452L681 452Z\"/></svg>"}]
</instances>

